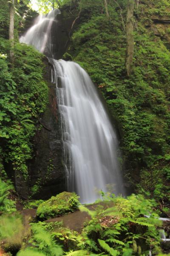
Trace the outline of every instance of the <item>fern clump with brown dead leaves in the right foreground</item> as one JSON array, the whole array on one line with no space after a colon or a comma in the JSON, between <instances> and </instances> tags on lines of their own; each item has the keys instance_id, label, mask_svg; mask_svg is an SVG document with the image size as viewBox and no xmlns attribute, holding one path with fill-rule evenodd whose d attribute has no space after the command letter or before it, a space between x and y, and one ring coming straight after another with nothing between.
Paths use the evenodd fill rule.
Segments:
<instances>
[{"instance_id":1,"label":"fern clump with brown dead leaves in the right foreground","mask_svg":"<svg viewBox=\"0 0 170 256\"><path fill-rule=\"evenodd\" d=\"M81 207L91 215L91 221L82 233L81 248L89 248L97 253L109 255L133 255L137 251L147 255L152 247L159 252L160 236L158 219L153 207L154 200L142 195L130 195L127 198L106 197L107 201L93 211ZM105 199L105 200L106 200ZM144 217L150 215L150 218Z\"/></svg>"}]
</instances>

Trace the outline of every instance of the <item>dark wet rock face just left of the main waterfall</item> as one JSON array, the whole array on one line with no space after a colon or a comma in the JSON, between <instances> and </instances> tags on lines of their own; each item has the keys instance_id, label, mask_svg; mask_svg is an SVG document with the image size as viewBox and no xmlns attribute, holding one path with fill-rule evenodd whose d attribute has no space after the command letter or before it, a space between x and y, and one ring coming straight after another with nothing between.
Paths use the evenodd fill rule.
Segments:
<instances>
[{"instance_id":1,"label":"dark wet rock face just left of the main waterfall","mask_svg":"<svg viewBox=\"0 0 170 256\"><path fill-rule=\"evenodd\" d=\"M28 164L30 189L33 198L49 198L65 190L65 171L62 164L62 141L57 111L56 86L51 83L51 66L45 61L49 86L49 104L40 127L34 136L34 158Z\"/></svg>"}]
</instances>

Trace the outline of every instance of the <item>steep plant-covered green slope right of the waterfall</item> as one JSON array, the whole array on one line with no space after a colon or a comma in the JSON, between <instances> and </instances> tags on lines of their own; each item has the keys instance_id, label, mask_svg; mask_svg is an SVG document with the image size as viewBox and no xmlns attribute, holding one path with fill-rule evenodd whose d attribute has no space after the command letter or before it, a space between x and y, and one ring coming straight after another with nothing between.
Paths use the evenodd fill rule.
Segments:
<instances>
[{"instance_id":1,"label":"steep plant-covered green slope right of the waterfall","mask_svg":"<svg viewBox=\"0 0 170 256\"><path fill-rule=\"evenodd\" d=\"M150 11L153 4L165 12L169 2L144 1L135 9L134 67L130 77L125 70L126 5L121 0L116 2L109 2L111 20L107 20L102 0L88 1L87 5L82 1L68 54L87 70L107 102L119 133L125 183L139 192L149 190L158 201L164 198L168 202L170 51L164 40L154 35Z\"/></svg>"}]
</instances>

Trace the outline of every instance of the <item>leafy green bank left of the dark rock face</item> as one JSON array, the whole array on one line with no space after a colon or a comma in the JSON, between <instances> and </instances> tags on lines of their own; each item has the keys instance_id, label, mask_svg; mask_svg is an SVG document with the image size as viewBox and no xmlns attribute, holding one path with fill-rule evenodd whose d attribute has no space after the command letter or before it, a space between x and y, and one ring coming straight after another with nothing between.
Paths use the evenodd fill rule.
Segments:
<instances>
[{"instance_id":1,"label":"leafy green bank left of the dark rock face","mask_svg":"<svg viewBox=\"0 0 170 256\"><path fill-rule=\"evenodd\" d=\"M2 39L2 38L1 38ZM32 47L15 44L14 68L9 68L6 52L9 43L0 41L0 155L26 180L27 161L32 158L31 139L38 116L48 102L48 87L43 80L43 56ZM3 176L3 166L1 166ZM13 176L11 173L10 176Z\"/></svg>"}]
</instances>

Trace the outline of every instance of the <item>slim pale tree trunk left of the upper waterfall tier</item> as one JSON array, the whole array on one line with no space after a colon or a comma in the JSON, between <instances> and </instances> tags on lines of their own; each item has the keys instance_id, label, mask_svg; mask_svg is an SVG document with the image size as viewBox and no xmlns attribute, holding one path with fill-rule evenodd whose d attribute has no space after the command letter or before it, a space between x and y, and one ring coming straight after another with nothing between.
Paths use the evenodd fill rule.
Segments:
<instances>
[{"instance_id":1,"label":"slim pale tree trunk left of the upper waterfall tier","mask_svg":"<svg viewBox=\"0 0 170 256\"><path fill-rule=\"evenodd\" d=\"M11 40L11 49L9 52L9 58L11 61L11 65L14 63L14 0L11 0L9 3L9 40Z\"/></svg>"}]
</instances>

